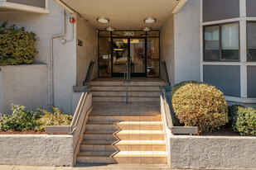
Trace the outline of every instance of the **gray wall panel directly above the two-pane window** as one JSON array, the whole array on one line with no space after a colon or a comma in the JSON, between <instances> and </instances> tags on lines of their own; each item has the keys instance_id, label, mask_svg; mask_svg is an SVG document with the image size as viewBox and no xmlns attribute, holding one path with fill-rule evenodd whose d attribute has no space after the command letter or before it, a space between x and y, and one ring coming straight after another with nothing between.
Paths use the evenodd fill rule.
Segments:
<instances>
[{"instance_id":1,"label":"gray wall panel directly above the two-pane window","mask_svg":"<svg viewBox=\"0 0 256 170\"><path fill-rule=\"evenodd\" d=\"M203 21L234 17L239 17L239 0L203 0Z\"/></svg>"}]
</instances>

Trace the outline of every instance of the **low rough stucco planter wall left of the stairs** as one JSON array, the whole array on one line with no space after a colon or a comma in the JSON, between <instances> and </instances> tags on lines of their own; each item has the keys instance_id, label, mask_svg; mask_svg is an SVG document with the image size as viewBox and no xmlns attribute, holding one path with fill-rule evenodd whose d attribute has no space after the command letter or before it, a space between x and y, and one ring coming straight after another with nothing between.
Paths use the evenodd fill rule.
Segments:
<instances>
[{"instance_id":1,"label":"low rough stucco planter wall left of the stairs","mask_svg":"<svg viewBox=\"0 0 256 170\"><path fill-rule=\"evenodd\" d=\"M73 166L72 135L0 135L0 164Z\"/></svg>"}]
</instances>

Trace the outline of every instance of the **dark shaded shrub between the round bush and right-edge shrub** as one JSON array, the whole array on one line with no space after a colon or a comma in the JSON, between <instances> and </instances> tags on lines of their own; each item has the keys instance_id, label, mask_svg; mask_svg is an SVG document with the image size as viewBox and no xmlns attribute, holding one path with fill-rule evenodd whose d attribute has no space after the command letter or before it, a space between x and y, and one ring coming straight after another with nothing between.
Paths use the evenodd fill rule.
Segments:
<instances>
[{"instance_id":1,"label":"dark shaded shrub between the round bush and right-edge shrub","mask_svg":"<svg viewBox=\"0 0 256 170\"><path fill-rule=\"evenodd\" d=\"M232 130L237 131L236 129L236 121L237 121L237 112L239 111L239 107L243 107L241 105L232 105L229 106L229 127L231 127Z\"/></svg>"}]
</instances>

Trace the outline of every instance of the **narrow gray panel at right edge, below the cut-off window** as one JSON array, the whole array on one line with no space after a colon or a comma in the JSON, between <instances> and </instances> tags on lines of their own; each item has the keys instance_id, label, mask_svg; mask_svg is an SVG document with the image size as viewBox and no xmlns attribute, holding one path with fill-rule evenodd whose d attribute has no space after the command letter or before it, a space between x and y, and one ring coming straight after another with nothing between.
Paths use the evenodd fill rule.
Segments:
<instances>
[{"instance_id":1,"label":"narrow gray panel at right edge, below the cut-off window","mask_svg":"<svg viewBox=\"0 0 256 170\"><path fill-rule=\"evenodd\" d=\"M247 94L249 98L256 98L256 66L247 67Z\"/></svg>"}]
</instances>

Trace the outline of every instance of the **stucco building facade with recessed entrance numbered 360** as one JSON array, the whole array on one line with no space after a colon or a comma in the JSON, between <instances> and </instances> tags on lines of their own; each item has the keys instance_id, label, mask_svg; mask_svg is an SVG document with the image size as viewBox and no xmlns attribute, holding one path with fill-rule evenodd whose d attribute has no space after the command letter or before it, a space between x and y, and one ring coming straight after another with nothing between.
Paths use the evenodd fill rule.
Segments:
<instances>
[{"instance_id":1,"label":"stucco building facade with recessed entrance numbered 360","mask_svg":"<svg viewBox=\"0 0 256 170\"><path fill-rule=\"evenodd\" d=\"M93 78L113 78L123 77L128 60L132 77L162 77L165 61L171 86L203 81L230 103L255 106L254 7L254 0L0 0L0 23L39 38L34 64L1 67L0 112L12 101L72 114L73 87L83 85L91 61Z\"/></svg>"}]
</instances>

